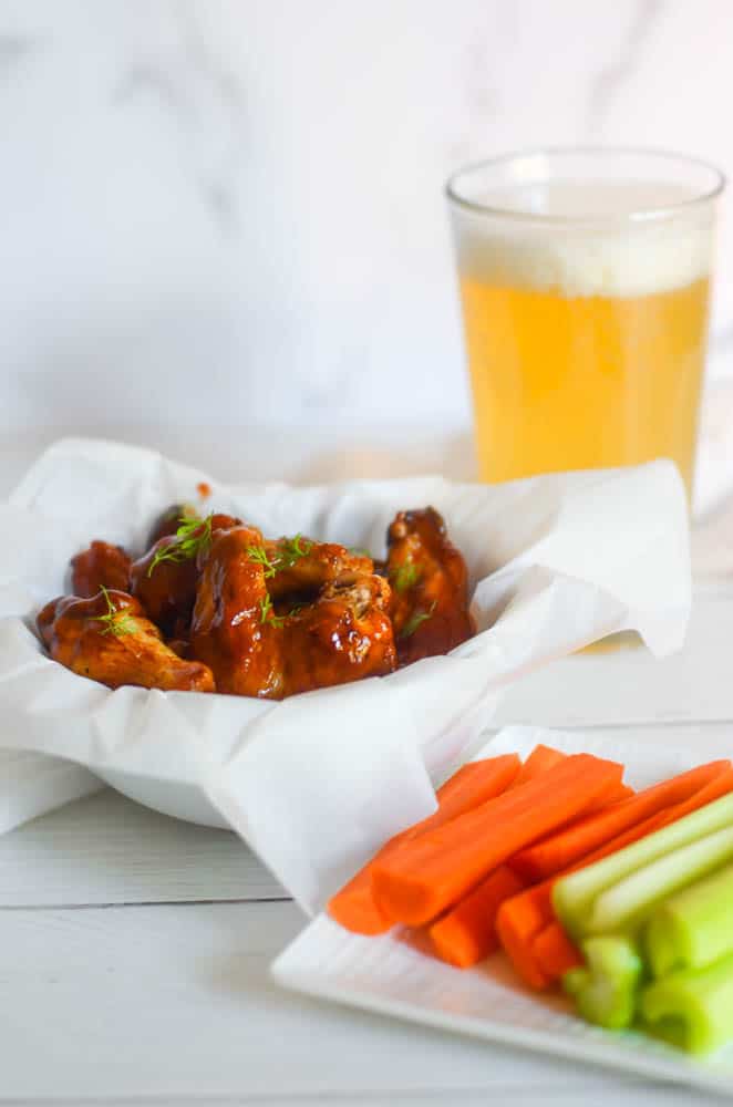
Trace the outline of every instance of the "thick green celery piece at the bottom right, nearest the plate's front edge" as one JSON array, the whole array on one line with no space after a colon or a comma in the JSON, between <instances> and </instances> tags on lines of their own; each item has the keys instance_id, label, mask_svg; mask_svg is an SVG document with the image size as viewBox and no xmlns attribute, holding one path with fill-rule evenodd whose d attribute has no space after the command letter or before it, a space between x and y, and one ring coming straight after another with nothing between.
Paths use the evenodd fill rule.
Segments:
<instances>
[{"instance_id":1,"label":"thick green celery piece at the bottom right, nearest the plate's front edge","mask_svg":"<svg viewBox=\"0 0 733 1107\"><path fill-rule=\"evenodd\" d=\"M724 1045L733 1039L733 954L654 981L640 1010L650 1033L690 1053Z\"/></svg>"}]
</instances>

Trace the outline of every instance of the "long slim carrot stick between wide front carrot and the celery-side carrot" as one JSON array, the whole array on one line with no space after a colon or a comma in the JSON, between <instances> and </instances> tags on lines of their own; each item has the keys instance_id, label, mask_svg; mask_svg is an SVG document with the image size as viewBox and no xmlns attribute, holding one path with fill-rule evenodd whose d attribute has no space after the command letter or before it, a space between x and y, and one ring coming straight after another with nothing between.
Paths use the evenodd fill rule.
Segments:
<instances>
[{"instance_id":1,"label":"long slim carrot stick between wide front carrot and the celery-side carrot","mask_svg":"<svg viewBox=\"0 0 733 1107\"><path fill-rule=\"evenodd\" d=\"M711 762L646 788L636 796L587 816L544 841L522 850L512 858L512 868L525 880L544 880L567 869L634 824L642 823L665 807L690 799L730 769L730 761Z\"/></svg>"}]
</instances>

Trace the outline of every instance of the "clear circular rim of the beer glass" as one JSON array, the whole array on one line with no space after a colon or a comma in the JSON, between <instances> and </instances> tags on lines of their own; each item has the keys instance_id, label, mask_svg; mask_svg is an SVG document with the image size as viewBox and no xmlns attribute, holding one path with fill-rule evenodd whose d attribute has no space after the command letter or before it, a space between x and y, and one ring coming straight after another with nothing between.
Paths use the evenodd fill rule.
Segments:
<instances>
[{"instance_id":1,"label":"clear circular rim of the beer glass","mask_svg":"<svg viewBox=\"0 0 733 1107\"><path fill-rule=\"evenodd\" d=\"M618 215L548 215L537 211L517 211L510 208L496 207L493 204L482 204L478 200L468 199L462 196L457 189L460 178L468 174L474 174L479 169L488 169L509 165L520 158L545 157L557 158L567 156L590 155L619 155L622 157L648 157L658 158L660 162L675 162L678 165L686 165L698 169L705 169L712 174L713 183L710 188L701 190L699 194L677 200L672 204L663 204L659 207L641 207L638 210L623 211ZM445 183L445 196L451 204L463 208L465 211L493 216L495 218L513 220L524 224L545 224L555 227L578 226L581 224L623 224L623 223L648 223L658 219L669 219L692 208L710 204L716 199L727 184L727 178L722 169L719 169L712 162L706 162L701 157L692 157L688 154L678 154L674 151L652 149L643 146L535 146L526 149L518 149L506 154L498 154L495 157L482 158L477 162L468 162L456 169Z\"/></svg>"}]
</instances>

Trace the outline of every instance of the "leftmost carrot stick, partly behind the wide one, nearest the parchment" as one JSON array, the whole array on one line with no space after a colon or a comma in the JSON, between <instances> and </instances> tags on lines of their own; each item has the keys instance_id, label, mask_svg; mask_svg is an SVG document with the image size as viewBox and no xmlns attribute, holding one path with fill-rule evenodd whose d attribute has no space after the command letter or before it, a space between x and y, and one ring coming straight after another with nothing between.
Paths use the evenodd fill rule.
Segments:
<instances>
[{"instance_id":1,"label":"leftmost carrot stick, partly behind the wide one, nearest the parchment","mask_svg":"<svg viewBox=\"0 0 733 1107\"><path fill-rule=\"evenodd\" d=\"M503 754L499 757L488 757L463 765L438 788L437 810L391 838L379 853L331 898L328 906L331 918L357 934L383 934L391 928L392 920L379 909L372 896L373 865L426 830L435 829L471 810L472 807L500 795L515 779L519 769L520 762L516 754Z\"/></svg>"}]
</instances>

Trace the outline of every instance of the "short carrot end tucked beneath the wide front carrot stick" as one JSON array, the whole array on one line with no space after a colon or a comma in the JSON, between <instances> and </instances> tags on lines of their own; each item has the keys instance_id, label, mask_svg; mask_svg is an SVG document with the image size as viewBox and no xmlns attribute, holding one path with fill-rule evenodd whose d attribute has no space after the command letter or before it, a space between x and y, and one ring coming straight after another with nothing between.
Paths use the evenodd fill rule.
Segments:
<instances>
[{"instance_id":1,"label":"short carrot end tucked beneath the wide front carrot stick","mask_svg":"<svg viewBox=\"0 0 733 1107\"><path fill-rule=\"evenodd\" d=\"M523 888L512 869L499 865L429 929L436 956L458 969L468 969L487 958L499 944L495 928L499 907Z\"/></svg>"}]
</instances>

